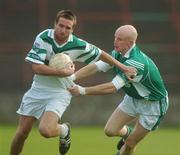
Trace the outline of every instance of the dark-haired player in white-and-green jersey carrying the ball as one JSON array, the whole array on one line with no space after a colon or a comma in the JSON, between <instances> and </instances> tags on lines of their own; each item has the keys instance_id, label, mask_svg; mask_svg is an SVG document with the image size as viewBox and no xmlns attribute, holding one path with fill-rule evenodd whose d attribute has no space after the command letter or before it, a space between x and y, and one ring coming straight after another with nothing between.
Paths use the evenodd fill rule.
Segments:
<instances>
[{"instance_id":1,"label":"dark-haired player in white-and-green jersey carrying the ball","mask_svg":"<svg viewBox=\"0 0 180 155\"><path fill-rule=\"evenodd\" d=\"M73 61L86 64L101 59L134 74L136 69L119 63L98 47L72 34L76 16L69 10L57 13L54 29L37 35L25 60L30 62L35 73L31 88L25 93L17 113L20 114L16 135L11 144L10 155L19 155L33 124L39 120L39 132L46 138L60 136L59 152L64 155L70 148L70 126L59 124L61 116L70 104L71 94L68 78L74 73L74 65L57 70L48 66L50 58L57 53L66 53ZM70 84L69 84L70 82Z\"/></svg>"}]
</instances>

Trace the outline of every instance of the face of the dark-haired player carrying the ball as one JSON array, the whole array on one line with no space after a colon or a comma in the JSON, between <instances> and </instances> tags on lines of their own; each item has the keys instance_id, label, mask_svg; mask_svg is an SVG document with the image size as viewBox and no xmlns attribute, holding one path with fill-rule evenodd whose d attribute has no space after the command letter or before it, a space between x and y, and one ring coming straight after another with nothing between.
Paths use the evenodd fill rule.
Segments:
<instances>
[{"instance_id":1,"label":"face of the dark-haired player carrying the ball","mask_svg":"<svg viewBox=\"0 0 180 155\"><path fill-rule=\"evenodd\" d=\"M62 43L66 42L73 32L73 25L73 21L60 17L54 26L56 40Z\"/></svg>"}]
</instances>

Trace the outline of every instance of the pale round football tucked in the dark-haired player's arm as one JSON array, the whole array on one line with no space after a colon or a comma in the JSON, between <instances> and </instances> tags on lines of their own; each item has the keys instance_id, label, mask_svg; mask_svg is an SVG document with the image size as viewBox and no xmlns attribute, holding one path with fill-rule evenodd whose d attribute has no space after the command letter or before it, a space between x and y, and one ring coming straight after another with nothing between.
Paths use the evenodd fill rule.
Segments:
<instances>
[{"instance_id":1,"label":"pale round football tucked in the dark-haired player's arm","mask_svg":"<svg viewBox=\"0 0 180 155\"><path fill-rule=\"evenodd\" d=\"M56 68L56 69L62 69L67 66L67 64L73 63L71 58L64 53L58 53L52 56L52 58L49 60L49 66Z\"/></svg>"}]
</instances>

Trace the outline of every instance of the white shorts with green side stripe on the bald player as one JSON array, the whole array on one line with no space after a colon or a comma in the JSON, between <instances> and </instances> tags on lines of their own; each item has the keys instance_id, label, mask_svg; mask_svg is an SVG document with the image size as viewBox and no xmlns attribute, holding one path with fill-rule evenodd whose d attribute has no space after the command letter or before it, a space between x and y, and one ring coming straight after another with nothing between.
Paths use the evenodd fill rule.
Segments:
<instances>
[{"instance_id":1,"label":"white shorts with green side stripe on the bald player","mask_svg":"<svg viewBox=\"0 0 180 155\"><path fill-rule=\"evenodd\" d=\"M145 129L155 130L164 118L168 105L167 97L160 101L147 101L125 95L118 107L129 116L138 117Z\"/></svg>"}]
</instances>

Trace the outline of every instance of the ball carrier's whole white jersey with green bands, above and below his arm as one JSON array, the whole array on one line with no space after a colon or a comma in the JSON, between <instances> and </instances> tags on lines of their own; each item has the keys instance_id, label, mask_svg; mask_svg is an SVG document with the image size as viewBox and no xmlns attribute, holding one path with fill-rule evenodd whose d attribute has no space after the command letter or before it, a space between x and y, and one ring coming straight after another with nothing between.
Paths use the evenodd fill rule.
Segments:
<instances>
[{"instance_id":1,"label":"ball carrier's whole white jersey with green bands, above and below his arm","mask_svg":"<svg viewBox=\"0 0 180 155\"><path fill-rule=\"evenodd\" d=\"M59 45L54 39L54 30L47 29L37 35L33 47L27 54L25 60L32 63L48 65L50 58L54 54L65 53L70 56L72 61L89 64L97 61L101 52L101 49L72 34L66 43ZM59 92L65 91L62 89L66 89L72 83L68 78L35 74L32 88Z\"/></svg>"}]
</instances>

